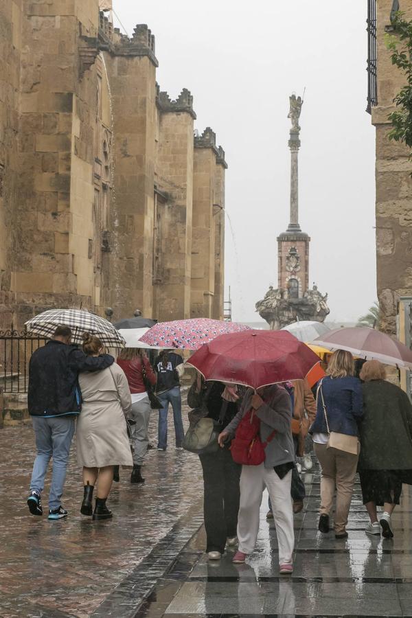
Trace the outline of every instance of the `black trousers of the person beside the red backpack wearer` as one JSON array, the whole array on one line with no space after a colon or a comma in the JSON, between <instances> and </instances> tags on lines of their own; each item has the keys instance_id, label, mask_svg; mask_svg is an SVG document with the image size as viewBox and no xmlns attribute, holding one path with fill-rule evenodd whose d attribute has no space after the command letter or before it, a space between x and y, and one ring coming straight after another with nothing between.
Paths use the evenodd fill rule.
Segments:
<instances>
[{"instance_id":1,"label":"black trousers of the person beside the red backpack wearer","mask_svg":"<svg viewBox=\"0 0 412 618\"><path fill-rule=\"evenodd\" d=\"M206 551L223 553L227 538L237 534L242 466L235 464L228 448L199 457L203 468Z\"/></svg>"}]
</instances>

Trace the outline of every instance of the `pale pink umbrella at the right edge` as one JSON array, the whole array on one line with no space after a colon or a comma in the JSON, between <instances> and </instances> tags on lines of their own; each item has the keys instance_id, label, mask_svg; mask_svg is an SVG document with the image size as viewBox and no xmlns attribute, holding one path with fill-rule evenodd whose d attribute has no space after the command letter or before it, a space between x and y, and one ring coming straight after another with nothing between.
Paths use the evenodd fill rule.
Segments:
<instances>
[{"instance_id":1,"label":"pale pink umbrella at the right edge","mask_svg":"<svg viewBox=\"0 0 412 618\"><path fill-rule=\"evenodd\" d=\"M367 326L335 328L313 341L316 345L334 350L347 350L367 361L412 369L412 350L389 335Z\"/></svg>"}]
</instances>

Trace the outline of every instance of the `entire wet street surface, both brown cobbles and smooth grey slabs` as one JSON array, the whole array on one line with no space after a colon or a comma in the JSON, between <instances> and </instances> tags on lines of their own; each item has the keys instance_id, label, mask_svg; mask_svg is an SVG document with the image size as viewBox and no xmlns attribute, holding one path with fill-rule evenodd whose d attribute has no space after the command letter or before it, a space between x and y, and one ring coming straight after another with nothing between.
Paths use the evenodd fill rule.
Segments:
<instances>
[{"instance_id":1,"label":"entire wet street surface, both brown cobbles and smooth grey slabs","mask_svg":"<svg viewBox=\"0 0 412 618\"><path fill-rule=\"evenodd\" d=\"M154 438L155 415L150 431ZM205 560L198 460L174 448L148 455L144 487L130 485L122 472L111 496L111 522L92 523L78 513L82 488L74 451L65 496L70 517L28 516L32 444L30 427L0 432L2 618L412 617L409 488L393 516L393 540L363 531L358 484L349 538L335 540L317 531L319 472L304 474L308 499L295 518L295 571L287 577L277 571L266 496L258 548L247 564L231 564L232 553L220 563Z\"/></svg>"}]
</instances>

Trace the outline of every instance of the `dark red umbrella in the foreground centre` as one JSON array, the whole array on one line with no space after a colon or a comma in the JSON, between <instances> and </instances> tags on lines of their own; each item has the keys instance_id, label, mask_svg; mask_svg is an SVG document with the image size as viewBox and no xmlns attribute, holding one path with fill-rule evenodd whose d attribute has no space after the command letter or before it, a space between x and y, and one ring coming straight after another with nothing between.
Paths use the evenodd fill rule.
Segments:
<instances>
[{"instance_id":1,"label":"dark red umbrella in the foreground centre","mask_svg":"<svg viewBox=\"0 0 412 618\"><path fill-rule=\"evenodd\" d=\"M205 380L258 389L304 379L319 363L319 357L286 330L247 330L218 336L197 350L187 363Z\"/></svg>"}]
</instances>

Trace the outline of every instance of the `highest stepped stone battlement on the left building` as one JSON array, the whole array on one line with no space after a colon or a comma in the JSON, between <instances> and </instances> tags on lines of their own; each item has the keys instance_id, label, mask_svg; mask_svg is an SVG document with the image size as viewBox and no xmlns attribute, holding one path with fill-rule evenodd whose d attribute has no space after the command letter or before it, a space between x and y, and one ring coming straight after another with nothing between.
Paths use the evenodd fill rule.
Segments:
<instances>
[{"instance_id":1,"label":"highest stepped stone battlement on the left building","mask_svg":"<svg viewBox=\"0 0 412 618\"><path fill-rule=\"evenodd\" d=\"M155 56L155 35L146 23L137 24L133 36L129 37L119 28L113 28L113 23L100 11L99 41L100 49L113 56L148 56L155 67L159 66Z\"/></svg>"}]
</instances>

